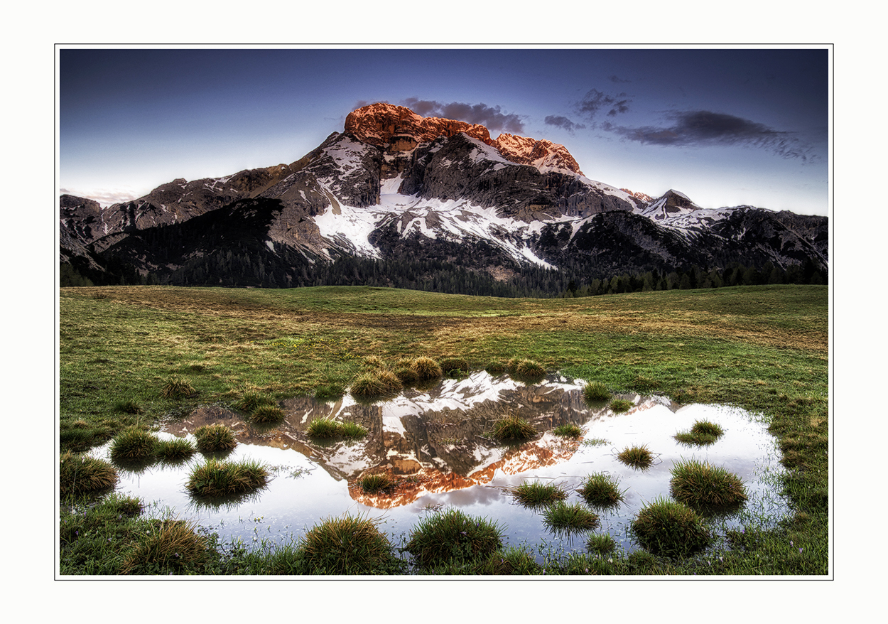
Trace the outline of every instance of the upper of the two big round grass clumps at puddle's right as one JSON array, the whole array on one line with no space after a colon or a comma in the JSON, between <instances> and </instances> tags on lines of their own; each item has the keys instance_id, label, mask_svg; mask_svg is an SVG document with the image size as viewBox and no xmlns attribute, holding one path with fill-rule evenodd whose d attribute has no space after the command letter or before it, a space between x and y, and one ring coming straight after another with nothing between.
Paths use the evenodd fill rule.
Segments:
<instances>
[{"instance_id":1,"label":"upper of the two big round grass clumps at puddle's right","mask_svg":"<svg viewBox=\"0 0 888 624\"><path fill-rule=\"evenodd\" d=\"M739 476L721 466L698 460L679 461L672 467L672 498L694 509L735 508L746 499Z\"/></svg>"}]
</instances>

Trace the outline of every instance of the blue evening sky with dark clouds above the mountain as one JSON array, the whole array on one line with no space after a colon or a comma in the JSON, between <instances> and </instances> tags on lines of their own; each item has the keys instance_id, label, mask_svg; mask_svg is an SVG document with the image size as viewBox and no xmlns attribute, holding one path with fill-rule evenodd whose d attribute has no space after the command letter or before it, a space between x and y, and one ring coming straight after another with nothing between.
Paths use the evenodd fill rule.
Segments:
<instances>
[{"instance_id":1,"label":"blue evening sky with dark clouds above the mountain","mask_svg":"<svg viewBox=\"0 0 888 624\"><path fill-rule=\"evenodd\" d=\"M59 46L59 193L112 204L291 163L385 101L561 143L586 177L704 208L830 212L830 50Z\"/></svg>"}]
</instances>

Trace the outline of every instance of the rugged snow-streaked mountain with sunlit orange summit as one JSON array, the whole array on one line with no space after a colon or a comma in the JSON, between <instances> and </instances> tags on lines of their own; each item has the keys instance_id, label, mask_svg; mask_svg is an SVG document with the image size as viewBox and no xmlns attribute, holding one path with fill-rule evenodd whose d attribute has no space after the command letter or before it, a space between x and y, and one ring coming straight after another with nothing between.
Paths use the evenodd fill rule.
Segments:
<instances>
[{"instance_id":1,"label":"rugged snow-streaked mountain with sunlit orange summit","mask_svg":"<svg viewBox=\"0 0 888 624\"><path fill-rule=\"evenodd\" d=\"M59 227L60 261L99 283L296 286L347 268L352 283L453 290L458 276L518 294L738 265L825 276L829 246L825 217L654 199L586 178L549 140L494 140L384 103L290 164L173 180L106 208L61 196Z\"/></svg>"}]
</instances>

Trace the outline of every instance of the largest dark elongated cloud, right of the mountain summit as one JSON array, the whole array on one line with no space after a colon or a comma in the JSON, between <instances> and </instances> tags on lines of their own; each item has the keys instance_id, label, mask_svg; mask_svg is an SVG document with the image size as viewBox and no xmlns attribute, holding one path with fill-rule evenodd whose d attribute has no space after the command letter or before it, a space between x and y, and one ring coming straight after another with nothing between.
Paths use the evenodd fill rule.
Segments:
<instances>
[{"instance_id":1,"label":"largest dark elongated cloud, right of the mountain summit","mask_svg":"<svg viewBox=\"0 0 888 624\"><path fill-rule=\"evenodd\" d=\"M781 132L765 124L742 117L714 113L710 110L688 110L667 114L672 124L646 125L638 128L602 124L602 129L620 134L639 143L667 146L709 146L745 144L772 150L784 158L814 159L812 148L792 132Z\"/></svg>"}]
</instances>

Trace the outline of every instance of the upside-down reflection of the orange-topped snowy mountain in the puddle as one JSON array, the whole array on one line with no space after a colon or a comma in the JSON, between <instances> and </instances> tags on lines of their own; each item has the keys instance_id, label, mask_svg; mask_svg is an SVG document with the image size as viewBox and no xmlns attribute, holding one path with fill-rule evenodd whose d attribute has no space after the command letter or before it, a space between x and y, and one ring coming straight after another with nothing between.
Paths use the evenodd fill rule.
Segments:
<instances>
[{"instance_id":1,"label":"upside-down reflection of the orange-topped snowy mountain in the puddle","mask_svg":"<svg viewBox=\"0 0 888 624\"><path fill-rule=\"evenodd\" d=\"M580 443L552 435L552 428L564 423L583 427L613 415L603 405L586 404L582 390L567 380L524 385L486 372L443 380L424 391L408 389L377 404L359 404L351 396L320 403L305 396L281 406L286 420L270 431L254 428L240 414L221 407L196 410L165 430L185 435L221 422L234 429L239 442L292 449L311 458L337 480L345 479L354 500L393 508L426 493L489 483L497 470L518 474L566 461ZM639 408L644 409L644 404L637 404L635 409ZM530 422L541 436L519 445L498 444L487 437L493 423L507 413ZM313 440L305 430L318 418L360 423L369 436L358 442ZM363 492L358 480L377 472L400 477L399 486L381 494Z\"/></svg>"}]
</instances>

